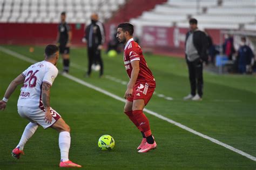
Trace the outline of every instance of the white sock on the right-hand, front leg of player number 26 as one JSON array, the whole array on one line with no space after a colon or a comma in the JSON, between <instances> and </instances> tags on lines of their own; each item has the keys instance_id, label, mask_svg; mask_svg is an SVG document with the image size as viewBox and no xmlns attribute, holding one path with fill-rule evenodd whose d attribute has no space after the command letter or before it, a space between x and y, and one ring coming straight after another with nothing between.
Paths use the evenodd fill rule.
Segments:
<instances>
[{"instance_id":1,"label":"white sock on the right-hand, front leg of player number 26","mask_svg":"<svg viewBox=\"0 0 256 170\"><path fill-rule=\"evenodd\" d=\"M60 149L60 161L69 160L69 148L70 148L70 133L69 132L60 132L59 133L59 149Z\"/></svg>"}]
</instances>

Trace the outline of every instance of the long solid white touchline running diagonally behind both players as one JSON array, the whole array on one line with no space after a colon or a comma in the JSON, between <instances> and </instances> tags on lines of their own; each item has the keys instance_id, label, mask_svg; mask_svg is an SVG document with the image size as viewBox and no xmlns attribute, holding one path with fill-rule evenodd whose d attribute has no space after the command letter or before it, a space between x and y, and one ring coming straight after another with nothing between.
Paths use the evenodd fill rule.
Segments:
<instances>
[{"instance_id":1,"label":"long solid white touchline running diagonally behind both players","mask_svg":"<svg viewBox=\"0 0 256 170\"><path fill-rule=\"evenodd\" d=\"M31 63L31 64L37 62L36 60L33 60L33 59L30 59L29 57L20 55L20 54L17 53L17 52L14 52L14 51L5 49L4 47L1 47L1 46L0 46L0 50L3 51L3 52L5 52L5 53L7 53L7 54L9 54L9 55L11 55L11 56L13 56L13 57L19 58L19 59L24 60L24 61L26 61L26 62L29 62L29 63ZM70 74L63 74L63 76L66 77L66 78L68 78L68 79L70 79L70 80L73 80L73 81L75 81L75 82L77 82L77 83L79 83L79 84L82 84L82 85L84 85L84 86L87 86L87 87L89 87L89 88L91 88L91 89L93 89L93 90L96 90L96 91L98 91L98 92L101 92L101 93L103 93L103 94L106 94L106 95L109 96L109 97L112 97L112 98L114 98L114 99L117 99L117 100L122 101L123 103L125 103L125 99L123 99L123 98L117 96L116 94L113 94L113 93L110 93L110 92L108 92L108 91L106 91L106 90L103 90L103 89L101 89L101 88L99 88L99 87L97 87L97 86L94 86L94 85L92 85L92 84L90 84L90 83L87 83L87 82L85 82L84 80L78 79L78 78L76 78L76 77L74 77L74 76L71 76ZM233 151L233 152L235 152L235 153L238 153L238 154L240 154L240 155L243 155L244 157L246 157L246 158L248 158L248 159L251 159L251 160L253 160L253 161L256 162L256 158L253 157L252 155L248 154L248 153L245 153L245 152L243 152L243 151L241 151L241 150L239 150L239 149L237 149L237 148L234 148L234 147L232 147L232 146L230 146L230 145L227 145L227 144L225 144L225 143L223 143L223 142L221 142L221 141L219 141L219 140L217 140L217 139L208 137L207 135L205 135L205 134L203 134L203 133L200 133L200 132L197 132L197 131L193 130L192 128L189 128L189 127L187 127L187 126L185 126L185 125L182 125L182 124L180 124L180 123L178 123L178 122L176 122L176 121L174 121L174 120L172 120L172 119L166 118L166 117L164 117L163 115L161 115L161 114L159 114L159 113L157 113L157 112L153 112L153 111L151 111L151 110L148 110L147 108L144 108L144 111L147 112L147 113L149 113L149 114L151 114L151 115L154 115L155 117L157 117L157 118L159 118L159 119L161 119L161 120L165 120L165 121L167 121L167 122L169 122L169 123L171 123L171 124L173 124L173 125L176 125L176 126L178 126L178 127L180 127L180 128L183 128L184 130L186 130L186 131L188 131L188 132L191 132L191 133L193 133L193 134L198 135L199 137L202 137L202 138L205 138L205 139L207 139L207 140L210 140L210 141L214 142L215 144L218 144L218 145L223 146L223 147L225 147L225 148L227 148L227 149L230 149L231 151Z\"/></svg>"}]
</instances>

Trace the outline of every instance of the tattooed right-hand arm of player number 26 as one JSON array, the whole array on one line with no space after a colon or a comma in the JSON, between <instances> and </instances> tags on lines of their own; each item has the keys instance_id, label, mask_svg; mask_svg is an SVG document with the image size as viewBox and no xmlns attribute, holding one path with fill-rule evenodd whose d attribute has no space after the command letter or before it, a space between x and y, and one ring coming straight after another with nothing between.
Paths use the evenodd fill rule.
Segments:
<instances>
[{"instance_id":1,"label":"tattooed right-hand arm of player number 26","mask_svg":"<svg viewBox=\"0 0 256 170\"><path fill-rule=\"evenodd\" d=\"M50 111L50 89L51 85L48 83L43 82L42 84L42 101L45 109L45 122L50 124L51 123L51 111Z\"/></svg>"}]
</instances>

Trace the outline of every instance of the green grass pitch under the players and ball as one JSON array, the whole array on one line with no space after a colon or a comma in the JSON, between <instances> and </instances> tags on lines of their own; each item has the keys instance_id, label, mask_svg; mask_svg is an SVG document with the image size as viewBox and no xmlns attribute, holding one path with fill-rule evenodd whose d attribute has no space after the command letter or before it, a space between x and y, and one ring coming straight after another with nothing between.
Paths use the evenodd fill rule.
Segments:
<instances>
[{"instance_id":1,"label":"green grass pitch under the players and ball","mask_svg":"<svg viewBox=\"0 0 256 170\"><path fill-rule=\"evenodd\" d=\"M4 46L34 60L43 60L44 47ZM123 97L128 81L123 55L109 58L104 52L104 77L87 68L85 48L71 49L70 74ZM208 135L256 157L256 77L204 72L203 101L183 101L190 87L184 59L145 55L157 82L156 95L147 109ZM0 97L10 81L29 65L0 51ZM62 60L58 68L62 69ZM116 78L115 81L110 77ZM18 87L0 111L0 169L58 169L58 133L39 127L24 147L20 160L11 157L28 121L17 113ZM166 100L172 97L173 100ZM161 95L160 95L161 96ZM213 142L147 114L158 147L148 153L136 151L141 134L123 113L124 103L59 75L51 88L51 106L71 127L70 160L84 169L255 169L256 162ZM103 152L98 138L110 134L113 151Z\"/></svg>"}]
</instances>

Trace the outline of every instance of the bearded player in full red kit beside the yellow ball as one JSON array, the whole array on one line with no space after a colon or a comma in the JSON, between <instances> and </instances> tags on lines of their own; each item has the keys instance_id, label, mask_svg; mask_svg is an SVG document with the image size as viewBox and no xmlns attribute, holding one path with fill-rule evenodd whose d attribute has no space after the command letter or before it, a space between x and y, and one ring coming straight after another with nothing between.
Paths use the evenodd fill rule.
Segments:
<instances>
[{"instance_id":1,"label":"bearded player in full red kit beside the yellow ball","mask_svg":"<svg viewBox=\"0 0 256 170\"><path fill-rule=\"evenodd\" d=\"M149 103L156 88L153 74L147 67L142 49L132 38L133 25L129 23L119 24L117 38L125 44L124 64L130 78L125 92L125 114L133 124L142 132L143 139L137 148L139 153L147 152L157 147L156 141L150 130L149 120L143 113L143 108Z\"/></svg>"}]
</instances>

